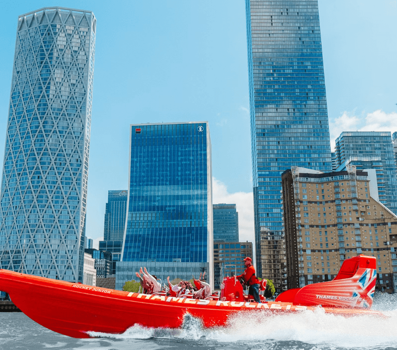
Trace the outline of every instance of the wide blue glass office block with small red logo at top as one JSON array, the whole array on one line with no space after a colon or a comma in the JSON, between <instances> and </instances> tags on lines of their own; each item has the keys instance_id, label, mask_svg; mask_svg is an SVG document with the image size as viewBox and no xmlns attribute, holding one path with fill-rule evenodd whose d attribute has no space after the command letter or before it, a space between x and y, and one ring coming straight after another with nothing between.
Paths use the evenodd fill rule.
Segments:
<instances>
[{"instance_id":1,"label":"wide blue glass office block with small red logo at top","mask_svg":"<svg viewBox=\"0 0 397 350\"><path fill-rule=\"evenodd\" d=\"M208 122L131 125L127 223L116 288L146 266L162 281L207 271L213 286Z\"/></svg>"}]
</instances>

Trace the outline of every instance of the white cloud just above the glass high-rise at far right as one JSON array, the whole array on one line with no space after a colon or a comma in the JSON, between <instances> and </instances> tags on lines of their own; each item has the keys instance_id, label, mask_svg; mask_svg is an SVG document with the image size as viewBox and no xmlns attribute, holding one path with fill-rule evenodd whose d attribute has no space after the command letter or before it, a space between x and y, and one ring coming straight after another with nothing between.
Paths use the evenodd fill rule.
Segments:
<instances>
[{"instance_id":1,"label":"white cloud just above the glass high-rise at far right","mask_svg":"<svg viewBox=\"0 0 397 350\"><path fill-rule=\"evenodd\" d=\"M377 109L372 113L364 112L357 115L356 110L344 111L342 116L329 121L331 149L335 148L335 140L343 131L397 131L397 113L386 113Z\"/></svg>"}]
</instances>

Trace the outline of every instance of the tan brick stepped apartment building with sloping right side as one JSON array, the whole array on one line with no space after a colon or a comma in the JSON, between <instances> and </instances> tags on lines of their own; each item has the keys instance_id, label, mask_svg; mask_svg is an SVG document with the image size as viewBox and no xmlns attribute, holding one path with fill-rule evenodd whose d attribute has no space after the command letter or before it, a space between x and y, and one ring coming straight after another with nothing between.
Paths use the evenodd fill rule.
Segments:
<instances>
[{"instance_id":1,"label":"tan brick stepped apartment building with sloping right side","mask_svg":"<svg viewBox=\"0 0 397 350\"><path fill-rule=\"evenodd\" d=\"M345 259L364 254L377 258L376 289L397 291L397 216L373 198L367 175L354 165L284 172L288 288L332 280Z\"/></svg>"}]
</instances>

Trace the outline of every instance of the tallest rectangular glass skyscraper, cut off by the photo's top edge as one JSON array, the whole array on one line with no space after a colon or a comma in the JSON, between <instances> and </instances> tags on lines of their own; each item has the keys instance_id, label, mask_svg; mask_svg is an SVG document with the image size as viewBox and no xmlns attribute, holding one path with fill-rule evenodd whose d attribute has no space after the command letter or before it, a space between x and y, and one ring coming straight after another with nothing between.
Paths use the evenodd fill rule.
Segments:
<instances>
[{"instance_id":1,"label":"tallest rectangular glass skyscraper, cut off by the photo's top edge","mask_svg":"<svg viewBox=\"0 0 397 350\"><path fill-rule=\"evenodd\" d=\"M283 239L281 174L292 164L331 171L317 0L246 0L258 276L261 239ZM277 287L277 286L276 286Z\"/></svg>"}]
</instances>

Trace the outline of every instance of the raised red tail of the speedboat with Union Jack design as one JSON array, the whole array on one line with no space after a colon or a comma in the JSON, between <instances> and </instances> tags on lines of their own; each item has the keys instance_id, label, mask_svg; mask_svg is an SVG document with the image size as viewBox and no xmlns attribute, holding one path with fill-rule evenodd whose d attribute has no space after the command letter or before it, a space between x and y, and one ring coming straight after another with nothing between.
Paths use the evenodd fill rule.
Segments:
<instances>
[{"instance_id":1,"label":"raised red tail of the speedboat with Union Jack design","mask_svg":"<svg viewBox=\"0 0 397 350\"><path fill-rule=\"evenodd\" d=\"M359 255L345 260L333 280L289 289L280 294L276 301L369 309L374 299L376 276L376 258Z\"/></svg>"}]
</instances>

